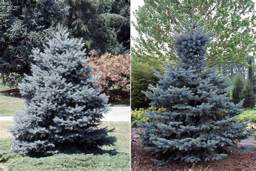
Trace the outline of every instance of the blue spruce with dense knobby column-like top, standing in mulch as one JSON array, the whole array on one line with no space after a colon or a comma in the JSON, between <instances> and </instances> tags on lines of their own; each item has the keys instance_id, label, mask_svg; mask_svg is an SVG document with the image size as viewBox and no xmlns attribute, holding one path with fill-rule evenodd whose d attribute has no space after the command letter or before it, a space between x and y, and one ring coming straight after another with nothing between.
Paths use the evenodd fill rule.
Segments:
<instances>
[{"instance_id":1,"label":"blue spruce with dense knobby column-like top, standing in mulch","mask_svg":"<svg viewBox=\"0 0 256 171\"><path fill-rule=\"evenodd\" d=\"M216 68L206 68L205 46L211 37L200 24L185 23L174 35L177 66L166 63L164 75L155 72L159 83L145 92L152 106L165 109L146 112L152 122L139 124L144 128L142 145L159 165L222 159L228 147L252 132L246 129L247 122L234 122L242 101L229 102L232 88L226 88L225 77Z\"/></svg>"}]
</instances>

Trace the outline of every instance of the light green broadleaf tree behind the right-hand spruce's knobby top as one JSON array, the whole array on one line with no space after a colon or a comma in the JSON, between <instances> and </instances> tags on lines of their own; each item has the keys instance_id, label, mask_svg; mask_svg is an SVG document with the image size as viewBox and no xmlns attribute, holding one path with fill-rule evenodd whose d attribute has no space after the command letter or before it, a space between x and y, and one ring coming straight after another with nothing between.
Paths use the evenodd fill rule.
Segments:
<instances>
[{"instance_id":1,"label":"light green broadleaf tree behind the right-hand spruce's knobby top","mask_svg":"<svg viewBox=\"0 0 256 171\"><path fill-rule=\"evenodd\" d=\"M134 12L139 37L134 38L133 60L155 57L176 59L172 34L180 21L204 19L214 39L208 45L209 65L245 66L254 52L255 12L253 1L150 1ZM162 59L162 60L161 60Z\"/></svg>"}]
</instances>

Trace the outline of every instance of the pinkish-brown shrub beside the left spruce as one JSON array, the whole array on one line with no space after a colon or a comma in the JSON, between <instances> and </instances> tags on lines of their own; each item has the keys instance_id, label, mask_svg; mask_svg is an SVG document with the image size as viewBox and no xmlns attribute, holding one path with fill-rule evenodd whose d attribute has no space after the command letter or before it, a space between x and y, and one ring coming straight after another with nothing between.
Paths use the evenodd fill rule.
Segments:
<instances>
[{"instance_id":1,"label":"pinkish-brown shrub beside the left spruce","mask_svg":"<svg viewBox=\"0 0 256 171\"><path fill-rule=\"evenodd\" d=\"M98 81L106 94L113 89L127 89L130 83L130 54L105 53L99 56L96 50L92 50L88 54L88 59L93 67L93 73L99 74Z\"/></svg>"}]
</instances>

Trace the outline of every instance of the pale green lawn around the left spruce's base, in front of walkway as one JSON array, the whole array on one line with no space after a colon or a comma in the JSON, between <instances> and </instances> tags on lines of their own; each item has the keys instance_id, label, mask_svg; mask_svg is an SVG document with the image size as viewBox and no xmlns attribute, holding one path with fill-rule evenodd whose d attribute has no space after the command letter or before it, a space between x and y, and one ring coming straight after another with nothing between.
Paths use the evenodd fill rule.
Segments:
<instances>
[{"instance_id":1,"label":"pale green lawn around the left spruce's base, in front of walkway","mask_svg":"<svg viewBox=\"0 0 256 171\"><path fill-rule=\"evenodd\" d=\"M11 122L0 121L0 170L130 170L130 123L103 122L100 127L109 126L110 133L117 137L114 146L104 146L106 151L116 149L117 154L71 154L53 155L43 158L19 156L10 152Z\"/></svg>"}]
</instances>

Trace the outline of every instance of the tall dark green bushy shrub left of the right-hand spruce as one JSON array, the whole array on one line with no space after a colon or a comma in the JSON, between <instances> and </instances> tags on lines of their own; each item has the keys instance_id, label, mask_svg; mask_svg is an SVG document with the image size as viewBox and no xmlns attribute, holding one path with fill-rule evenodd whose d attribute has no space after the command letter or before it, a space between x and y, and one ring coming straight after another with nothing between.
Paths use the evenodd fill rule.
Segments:
<instances>
[{"instance_id":1,"label":"tall dark green bushy shrub left of the right-hand spruce","mask_svg":"<svg viewBox=\"0 0 256 171\"><path fill-rule=\"evenodd\" d=\"M142 91L146 91L149 84L157 84L159 81L153 74L152 68L163 73L161 62L150 63L134 62L131 70L131 108L149 108L150 100L146 98Z\"/></svg>"}]
</instances>

